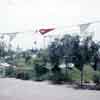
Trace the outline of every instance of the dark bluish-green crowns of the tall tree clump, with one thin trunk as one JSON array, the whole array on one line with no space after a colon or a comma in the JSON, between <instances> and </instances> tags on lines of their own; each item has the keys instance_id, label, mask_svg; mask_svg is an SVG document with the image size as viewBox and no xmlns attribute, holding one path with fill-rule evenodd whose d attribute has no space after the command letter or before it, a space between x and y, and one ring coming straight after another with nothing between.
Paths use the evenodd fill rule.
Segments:
<instances>
[{"instance_id":1,"label":"dark bluish-green crowns of the tall tree clump, with one thin trunk","mask_svg":"<svg viewBox=\"0 0 100 100\"><path fill-rule=\"evenodd\" d=\"M99 50L99 45L92 40L92 37L86 37L81 41L79 36L65 35L61 40L55 40L48 50L53 69L56 68L57 71L61 61L64 61L66 66L68 63L73 63L81 72L82 84L84 66L95 62L95 55ZM97 64L97 62L95 63ZM52 71L52 73L55 74L55 71ZM60 71L57 71L57 73L60 74Z\"/></svg>"}]
</instances>

